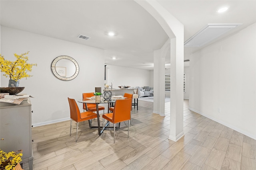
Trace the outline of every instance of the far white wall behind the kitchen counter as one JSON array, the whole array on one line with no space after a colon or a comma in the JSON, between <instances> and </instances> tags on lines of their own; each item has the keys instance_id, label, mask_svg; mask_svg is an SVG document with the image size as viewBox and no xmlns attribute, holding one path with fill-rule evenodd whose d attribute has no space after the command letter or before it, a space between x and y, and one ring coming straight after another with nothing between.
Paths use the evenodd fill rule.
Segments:
<instances>
[{"instance_id":1,"label":"far white wall behind the kitchen counter","mask_svg":"<svg viewBox=\"0 0 256 170\"><path fill-rule=\"evenodd\" d=\"M150 86L150 70L128 68L106 64L106 84L118 86Z\"/></svg>"}]
</instances>

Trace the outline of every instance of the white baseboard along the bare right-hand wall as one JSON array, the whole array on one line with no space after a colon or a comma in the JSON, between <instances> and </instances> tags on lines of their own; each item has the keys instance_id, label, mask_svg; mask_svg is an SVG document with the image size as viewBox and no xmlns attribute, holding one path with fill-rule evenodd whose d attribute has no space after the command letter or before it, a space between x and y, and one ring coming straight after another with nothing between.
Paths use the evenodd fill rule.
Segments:
<instances>
[{"instance_id":1,"label":"white baseboard along the bare right-hand wall","mask_svg":"<svg viewBox=\"0 0 256 170\"><path fill-rule=\"evenodd\" d=\"M198 110L192 109L192 108L190 108L190 107L188 107L188 109L189 109L189 110L192 110L192 111L194 111L194 112L196 112L196 113L198 113L198 114L200 114L200 115L203 115L204 117L207 117L207 118L209 118L209 119L212 119L212 120L214 120L214 121L216 121L216 122L218 122L218 123L220 123L220 124L222 124L222 125L224 125L224 126L226 126L226 127L229 127L229 128L231 128L231 129L233 129L233 130L235 130L235 131L238 131L239 133L242 133L242 134L244 134L244 135L246 135L246 136L248 136L248 137L250 137L250 138L256 140L256 136L253 136L252 134L249 134L249 133L243 131L242 129L239 129L239 128L233 126L233 125L230 125L230 124L228 124L228 123L226 123L226 122L223 122L223 121L221 121L221 120L219 120L219 119L216 119L216 118L214 118L214 117L211 117L211 116L209 116L209 115L206 115L206 114L204 114L204 113L202 113L202 112L200 112L200 111L198 111Z\"/></svg>"}]
</instances>

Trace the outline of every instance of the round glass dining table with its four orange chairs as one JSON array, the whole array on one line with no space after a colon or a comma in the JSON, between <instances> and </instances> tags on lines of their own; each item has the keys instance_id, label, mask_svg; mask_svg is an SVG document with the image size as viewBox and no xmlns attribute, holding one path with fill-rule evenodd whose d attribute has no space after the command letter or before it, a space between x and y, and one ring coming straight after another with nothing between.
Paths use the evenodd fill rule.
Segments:
<instances>
[{"instance_id":1,"label":"round glass dining table with its four orange chairs","mask_svg":"<svg viewBox=\"0 0 256 170\"><path fill-rule=\"evenodd\" d=\"M121 122L128 126L127 137L129 138L129 129L131 125L132 96L133 94L124 93L124 95L112 95L111 91L100 90L96 92L82 93L81 99L75 100L68 98L70 106L70 136L72 134L72 122L76 122L76 142L78 141L78 124L88 121L88 128L96 130L97 135L101 136L106 130L112 130L115 143L115 131L120 129ZM80 111L78 105L83 105L83 111ZM104 106L102 106L104 104ZM107 108L105 108L107 106ZM105 111L107 113L105 113ZM92 122L93 125L92 125Z\"/></svg>"}]
</instances>

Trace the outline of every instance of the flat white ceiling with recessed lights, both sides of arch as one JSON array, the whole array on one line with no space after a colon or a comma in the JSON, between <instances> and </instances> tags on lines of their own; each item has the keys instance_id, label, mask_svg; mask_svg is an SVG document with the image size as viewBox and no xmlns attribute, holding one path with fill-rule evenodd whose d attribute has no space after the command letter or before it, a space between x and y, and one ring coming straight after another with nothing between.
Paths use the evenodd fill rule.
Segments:
<instances>
[{"instance_id":1,"label":"flat white ceiling with recessed lights, both sides of arch","mask_svg":"<svg viewBox=\"0 0 256 170\"><path fill-rule=\"evenodd\" d=\"M242 23L221 39L256 22L256 0L157 1L184 24L184 41L208 23ZM217 13L222 6L228 11ZM168 39L133 0L1 0L0 10L2 26L104 49L105 64L152 70L153 51ZM116 35L109 37L108 31ZM77 38L80 34L90 39ZM200 48L185 47L184 59Z\"/></svg>"}]
</instances>

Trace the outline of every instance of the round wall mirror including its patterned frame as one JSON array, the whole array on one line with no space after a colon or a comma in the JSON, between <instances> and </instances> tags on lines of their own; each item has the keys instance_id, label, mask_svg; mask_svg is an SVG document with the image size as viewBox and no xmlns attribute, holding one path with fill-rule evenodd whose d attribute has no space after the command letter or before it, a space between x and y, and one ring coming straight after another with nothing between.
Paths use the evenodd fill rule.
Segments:
<instances>
[{"instance_id":1,"label":"round wall mirror including its patterned frame","mask_svg":"<svg viewBox=\"0 0 256 170\"><path fill-rule=\"evenodd\" d=\"M78 72L78 63L72 57L62 55L52 61L52 73L60 80L73 80Z\"/></svg>"}]
</instances>

